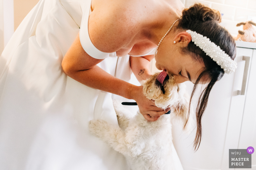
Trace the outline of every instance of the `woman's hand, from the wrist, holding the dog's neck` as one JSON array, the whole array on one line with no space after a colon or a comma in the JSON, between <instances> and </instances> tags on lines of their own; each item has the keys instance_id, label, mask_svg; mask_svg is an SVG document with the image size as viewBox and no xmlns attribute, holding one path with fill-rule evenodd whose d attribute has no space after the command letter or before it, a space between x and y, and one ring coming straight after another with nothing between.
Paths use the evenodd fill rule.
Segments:
<instances>
[{"instance_id":1,"label":"woman's hand, from the wrist, holding the dog's neck","mask_svg":"<svg viewBox=\"0 0 256 170\"><path fill-rule=\"evenodd\" d=\"M156 121L161 115L165 114L170 108L163 110L151 100L148 100L143 94L143 86L135 86L132 89L132 99L135 100L139 106L140 113L149 122Z\"/></svg>"}]
</instances>

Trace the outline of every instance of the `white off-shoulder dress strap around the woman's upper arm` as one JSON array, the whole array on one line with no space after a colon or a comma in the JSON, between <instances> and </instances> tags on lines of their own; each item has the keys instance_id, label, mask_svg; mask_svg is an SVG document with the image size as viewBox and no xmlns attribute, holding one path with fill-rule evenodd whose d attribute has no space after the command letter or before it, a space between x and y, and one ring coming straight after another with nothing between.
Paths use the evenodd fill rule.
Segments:
<instances>
[{"instance_id":1,"label":"white off-shoulder dress strap around the woman's upper arm","mask_svg":"<svg viewBox=\"0 0 256 170\"><path fill-rule=\"evenodd\" d=\"M89 54L91 57L95 59L105 59L109 57L109 53L99 51L94 44L91 42L89 30L88 30L88 21L91 11L91 0L85 0L84 7L83 7L83 16L82 16L82 22L79 32L80 37L80 43L86 51L87 54Z\"/></svg>"}]
</instances>

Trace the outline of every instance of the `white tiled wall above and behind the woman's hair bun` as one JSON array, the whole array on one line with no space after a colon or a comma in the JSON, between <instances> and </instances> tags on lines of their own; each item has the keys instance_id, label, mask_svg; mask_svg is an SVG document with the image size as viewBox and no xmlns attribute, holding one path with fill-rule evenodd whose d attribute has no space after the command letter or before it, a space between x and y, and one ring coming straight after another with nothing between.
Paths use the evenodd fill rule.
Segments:
<instances>
[{"instance_id":1,"label":"white tiled wall above and behind the woman's hair bun","mask_svg":"<svg viewBox=\"0 0 256 170\"><path fill-rule=\"evenodd\" d=\"M199 2L212 9L217 9L222 16L221 25L236 36L242 26L236 27L237 23L246 20L256 22L256 0L181 0L186 8Z\"/></svg>"}]
</instances>

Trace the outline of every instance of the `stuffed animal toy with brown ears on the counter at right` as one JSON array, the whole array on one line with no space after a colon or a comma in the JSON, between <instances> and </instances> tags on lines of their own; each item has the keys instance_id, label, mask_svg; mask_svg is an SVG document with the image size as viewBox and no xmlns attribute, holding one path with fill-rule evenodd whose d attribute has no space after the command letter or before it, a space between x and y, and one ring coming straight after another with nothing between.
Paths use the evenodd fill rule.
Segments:
<instances>
[{"instance_id":1,"label":"stuffed animal toy with brown ears on the counter at right","mask_svg":"<svg viewBox=\"0 0 256 170\"><path fill-rule=\"evenodd\" d=\"M237 27L240 25L243 25L243 31L238 31L235 40L256 43L256 24L253 21L246 21L245 23L238 23Z\"/></svg>"}]
</instances>

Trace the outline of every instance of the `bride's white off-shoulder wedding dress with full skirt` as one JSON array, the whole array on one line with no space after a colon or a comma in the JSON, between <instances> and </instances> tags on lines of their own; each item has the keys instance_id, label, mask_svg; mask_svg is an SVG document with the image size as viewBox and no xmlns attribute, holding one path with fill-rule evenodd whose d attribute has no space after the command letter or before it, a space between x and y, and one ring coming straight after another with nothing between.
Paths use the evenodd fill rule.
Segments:
<instances>
[{"instance_id":1,"label":"bride's white off-shoulder wedding dress with full skirt","mask_svg":"<svg viewBox=\"0 0 256 170\"><path fill-rule=\"evenodd\" d=\"M81 28L85 51L107 57L99 67L139 85L128 55L101 54L91 43L86 35L90 7L91 0L40 0L5 47L0 57L1 170L128 170L123 155L92 136L88 123L104 119L118 126L112 99L129 100L84 86L61 69ZM176 169L183 170L174 147L173 158Z\"/></svg>"}]
</instances>

